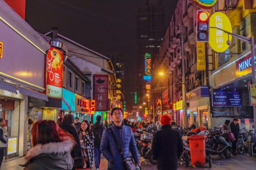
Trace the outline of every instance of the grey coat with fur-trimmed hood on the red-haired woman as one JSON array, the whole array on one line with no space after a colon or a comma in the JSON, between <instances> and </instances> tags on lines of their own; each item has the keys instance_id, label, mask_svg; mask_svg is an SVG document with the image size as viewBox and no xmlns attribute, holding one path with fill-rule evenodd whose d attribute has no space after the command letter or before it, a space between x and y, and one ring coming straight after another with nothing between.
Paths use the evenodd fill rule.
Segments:
<instances>
[{"instance_id":1,"label":"grey coat with fur-trimmed hood on the red-haired woman","mask_svg":"<svg viewBox=\"0 0 256 170\"><path fill-rule=\"evenodd\" d=\"M70 155L75 142L71 139L63 142L39 144L28 150L23 170L71 170L73 159Z\"/></svg>"}]
</instances>

